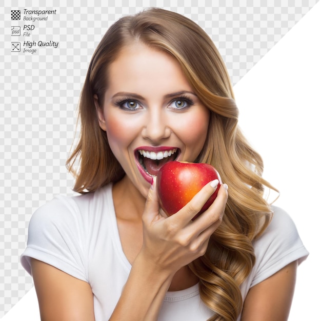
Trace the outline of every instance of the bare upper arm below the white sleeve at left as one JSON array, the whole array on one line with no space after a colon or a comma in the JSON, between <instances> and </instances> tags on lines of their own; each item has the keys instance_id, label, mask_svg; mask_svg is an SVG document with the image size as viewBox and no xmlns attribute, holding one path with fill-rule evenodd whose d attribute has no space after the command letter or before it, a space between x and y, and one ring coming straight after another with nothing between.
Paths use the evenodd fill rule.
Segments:
<instances>
[{"instance_id":1,"label":"bare upper arm below the white sleeve at left","mask_svg":"<svg viewBox=\"0 0 321 321\"><path fill-rule=\"evenodd\" d=\"M87 282L31 258L31 272L42 321L94 321L93 294Z\"/></svg>"}]
</instances>

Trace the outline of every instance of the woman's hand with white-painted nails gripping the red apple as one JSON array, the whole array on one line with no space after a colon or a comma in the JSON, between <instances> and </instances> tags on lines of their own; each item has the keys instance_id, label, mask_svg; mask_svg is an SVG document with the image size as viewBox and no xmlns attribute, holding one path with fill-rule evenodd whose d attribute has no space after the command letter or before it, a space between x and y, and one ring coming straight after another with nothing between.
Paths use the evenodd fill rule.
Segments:
<instances>
[{"instance_id":1,"label":"woman's hand with white-painted nails gripping the red apple","mask_svg":"<svg viewBox=\"0 0 321 321\"><path fill-rule=\"evenodd\" d=\"M159 208L155 178L143 214L143 246L141 252L155 271L174 274L183 266L205 254L209 238L222 222L228 198L227 185L222 185L214 203L198 216L217 188L217 180L208 183L176 214L165 217Z\"/></svg>"}]
</instances>

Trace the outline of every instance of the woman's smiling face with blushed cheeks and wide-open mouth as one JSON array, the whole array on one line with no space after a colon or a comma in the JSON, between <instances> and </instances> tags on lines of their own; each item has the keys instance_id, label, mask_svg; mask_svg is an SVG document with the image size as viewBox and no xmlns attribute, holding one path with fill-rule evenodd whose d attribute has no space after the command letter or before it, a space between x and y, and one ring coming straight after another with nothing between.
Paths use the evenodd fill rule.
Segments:
<instances>
[{"instance_id":1,"label":"woman's smiling face with blushed cheeks and wide-open mouth","mask_svg":"<svg viewBox=\"0 0 321 321\"><path fill-rule=\"evenodd\" d=\"M133 44L108 68L99 126L118 162L146 197L152 176L171 160L193 162L203 148L209 110L169 54Z\"/></svg>"}]
</instances>

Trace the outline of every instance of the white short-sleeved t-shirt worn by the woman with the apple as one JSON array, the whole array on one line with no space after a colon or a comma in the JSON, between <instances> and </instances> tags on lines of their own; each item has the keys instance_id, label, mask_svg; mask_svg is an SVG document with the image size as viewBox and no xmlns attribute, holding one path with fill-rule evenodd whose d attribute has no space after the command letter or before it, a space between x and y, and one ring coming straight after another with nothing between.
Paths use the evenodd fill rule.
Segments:
<instances>
[{"instance_id":1,"label":"white short-sleeved t-shirt worn by the woman with the apple","mask_svg":"<svg viewBox=\"0 0 321 321\"><path fill-rule=\"evenodd\" d=\"M250 287L309 254L292 219L276 207L269 227L253 245L256 263L241 286L243 298ZM27 248L21 256L31 274L30 257L88 282L96 321L108 320L131 269L119 238L112 186L73 197L59 195L39 208L30 220ZM195 285L167 292L158 320L203 321L212 315Z\"/></svg>"}]
</instances>

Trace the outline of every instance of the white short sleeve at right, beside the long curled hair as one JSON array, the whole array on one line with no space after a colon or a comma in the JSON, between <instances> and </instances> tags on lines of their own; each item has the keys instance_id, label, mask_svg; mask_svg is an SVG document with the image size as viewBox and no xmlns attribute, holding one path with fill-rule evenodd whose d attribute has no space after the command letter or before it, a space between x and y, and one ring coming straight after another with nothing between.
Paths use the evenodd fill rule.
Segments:
<instances>
[{"instance_id":1,"label":"white short sleeve at right, beside the long curled hair","mask_svg":"<svg viewBox=\"0 0 321 321\"><path fill-rule=\"evenodd\" d=\"M253 244L256 262L251 273L251 287L295 260L302 263L309 255L292 218L278 207L273 210L270 225Z\"/></svg>"}]
</instances>

